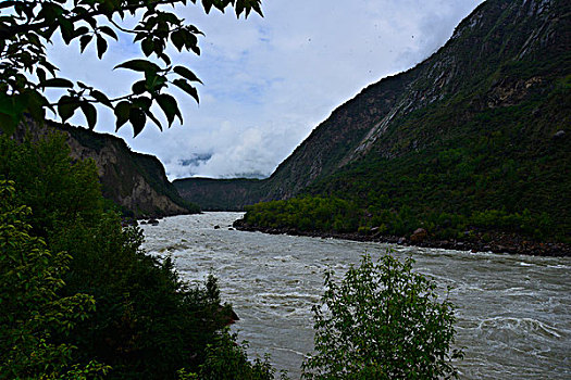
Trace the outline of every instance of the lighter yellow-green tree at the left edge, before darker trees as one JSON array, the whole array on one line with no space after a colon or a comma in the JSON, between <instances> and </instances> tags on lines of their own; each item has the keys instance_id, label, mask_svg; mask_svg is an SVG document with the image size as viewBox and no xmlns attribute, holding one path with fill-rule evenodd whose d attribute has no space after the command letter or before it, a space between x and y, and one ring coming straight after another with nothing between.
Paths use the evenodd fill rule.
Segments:
<instances>
[{"instance_id":1,"label":"lighter yellow-green tree at the left edge, before darker trees","mask_svg":"<svg viewBox=\"0 0 571 380\"><path fill-rule=\"evenodd\" d=\"M75 363L69 340L95 300L60 294L71 256L29 233L29 214L16 202L14 182L0 180L0 379L99 379L109 367Z\"/></svg>"}]
</instances>

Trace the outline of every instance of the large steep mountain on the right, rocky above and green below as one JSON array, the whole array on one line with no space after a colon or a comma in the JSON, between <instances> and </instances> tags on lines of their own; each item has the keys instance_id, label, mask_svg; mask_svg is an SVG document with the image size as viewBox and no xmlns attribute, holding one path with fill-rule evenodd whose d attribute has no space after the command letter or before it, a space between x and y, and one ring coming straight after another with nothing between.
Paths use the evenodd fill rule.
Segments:
<instances>
[{"instance_id":1,"label":"large steep mountain on the right, rocky above and green below","mask_svg":"<svg viewBox=\"0 0 571 380\"><path fill-rule=\"evenodd\" d=\"M245 224L569 240L570 15L563 0L485 1L432 56L336 109L251 192L289 201Z\"/></svg>"}]
</instances>

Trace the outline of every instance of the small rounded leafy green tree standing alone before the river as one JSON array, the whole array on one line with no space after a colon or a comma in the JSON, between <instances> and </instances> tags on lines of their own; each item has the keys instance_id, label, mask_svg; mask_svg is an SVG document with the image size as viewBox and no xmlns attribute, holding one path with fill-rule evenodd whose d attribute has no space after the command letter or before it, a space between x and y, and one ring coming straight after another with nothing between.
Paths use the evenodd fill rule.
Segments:
<instances>
[{"instance_id":1,"label":"small rounded leafy green tree standing alone before the river","mask_svg":"<svg viewBox=\"0 0 571 380\"><path fill-rule=\"evenodd\" d=\"M436 284L387 254L362 256L338 286L325 274L326 291L313 307L315 354L305 379L455 378L452 304L439 302Z\"/></svg>"}]
</instances>

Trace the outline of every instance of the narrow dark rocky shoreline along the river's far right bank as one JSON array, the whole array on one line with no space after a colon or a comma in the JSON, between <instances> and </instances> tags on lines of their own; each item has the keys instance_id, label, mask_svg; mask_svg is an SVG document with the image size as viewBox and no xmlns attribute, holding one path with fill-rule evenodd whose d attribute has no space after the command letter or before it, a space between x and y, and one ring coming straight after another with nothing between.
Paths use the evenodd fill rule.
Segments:
<instances>
[{"instance_id":1,"label":"narrow dark rocky shoreline along the river's far right bank","mask_svg":"<svg viewBox=\"0 0 571 380\"><path fill-rule=\"evenodd\" d=\"M291 235L306 236L312 238L333 238L345 239L353 241L370 241L380 243L394 243L400 245L424 246L424 248L439 248L446 250L471 251L471 252L493 252L493 253L508 253L521 255L535 256L571 256L571 244L554 243L554 242L536 242L526 240L520 236L507 235L502 232L492 233L489 239L482 238L481 233L476 233L467 240L437 240L430 236L422 238L414 238L414 233L410 237L383 236L378 233L364 235L358 232L337 233L337 232L321 232L321 231L299 231L294 228L265 228L250 226L238 219L234 223L234 228L241 231L259 231L272 235ZM489 233L488 233L489 236Z\"/></svg>"}]
</instances>

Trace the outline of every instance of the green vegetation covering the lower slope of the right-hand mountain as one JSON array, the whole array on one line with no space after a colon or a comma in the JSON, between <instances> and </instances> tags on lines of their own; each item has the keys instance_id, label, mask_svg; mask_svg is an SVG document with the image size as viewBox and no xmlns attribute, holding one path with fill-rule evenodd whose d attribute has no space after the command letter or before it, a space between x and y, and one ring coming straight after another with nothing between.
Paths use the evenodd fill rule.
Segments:
<instances>
[{"instance_id":1,"label":"green vegetation covering the lower slope of the right-hand mountain","mask_svg":"<svg viewBox=\"0 0 571 380\"><path fill-rule=\"evenodd\" d=\"M400 129L400 144L393 149L434 142L395 151L392 159L365 156L296 199L247 208L245 220L300 231L369 233L375 228L408 236L422 227L437 239L504 232L569 242L569 137L555 138L562 126L553 123L571 117L568 84L566 77L548 94L473 114L461 124L448 123L447 129L436 122L469 110L433 104L400 122L411 127ZM440 129L422 136L425 128L412 127L426 123Z\"/></svg>"}]
</instances>

